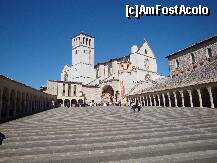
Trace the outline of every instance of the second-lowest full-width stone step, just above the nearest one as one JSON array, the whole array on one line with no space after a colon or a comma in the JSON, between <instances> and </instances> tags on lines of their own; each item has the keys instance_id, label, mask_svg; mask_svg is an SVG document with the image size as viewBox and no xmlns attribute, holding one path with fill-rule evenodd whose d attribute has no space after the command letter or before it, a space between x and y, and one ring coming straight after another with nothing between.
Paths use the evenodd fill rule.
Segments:
<instances>
[{"instance_id":1,"label":"second-lowest full-width stone step, just above the nearest one","mask_svg":"<svg viewBox=\"0 0 217 163\"><path fill-rule=\"evenodd\" d=\"M68 150L76 151L90 151L90 150L101 150L108 148L127 148L136 146L148 146L157 144L167 144L167 143L180 143L187 141L198 141L198 140L208 140L216 139L213 135L189 135L189 136L174 136L174 137L161 137L161 138L150 138L150 139L137 139L128 141L115 141L115 142L102 142L102 143L92 143L92 144L77 144L69 145L70 143L62 146L51 146L46 147L30 147L30 148L12 148L12 149L1 149L0 158L5 156L21 156L21 155L33 155L33 154L45 154L45 153L63 153Z\"/></svg>"}]
</instances>

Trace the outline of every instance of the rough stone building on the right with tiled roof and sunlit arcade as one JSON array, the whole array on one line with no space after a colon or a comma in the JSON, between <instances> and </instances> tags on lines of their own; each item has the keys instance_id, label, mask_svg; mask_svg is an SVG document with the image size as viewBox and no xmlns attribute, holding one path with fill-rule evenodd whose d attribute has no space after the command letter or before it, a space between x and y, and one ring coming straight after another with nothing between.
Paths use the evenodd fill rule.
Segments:
<instances>
[{"instance_id":1,"label":"rough stone building on the right with tiled roof and sunlit arcade","mask_svg":"<svg viewBox=\"0 0 217 163\"><path fill-rule=\"evenodd\" d=\"M129 104L217 108L217 36L167 58L170 76L128 95Z\"/></svg>"}]
</instances>

